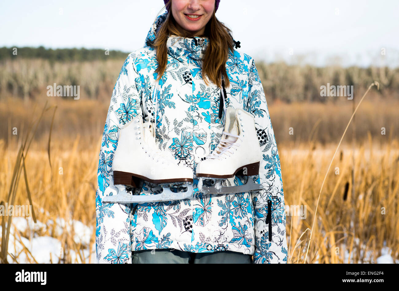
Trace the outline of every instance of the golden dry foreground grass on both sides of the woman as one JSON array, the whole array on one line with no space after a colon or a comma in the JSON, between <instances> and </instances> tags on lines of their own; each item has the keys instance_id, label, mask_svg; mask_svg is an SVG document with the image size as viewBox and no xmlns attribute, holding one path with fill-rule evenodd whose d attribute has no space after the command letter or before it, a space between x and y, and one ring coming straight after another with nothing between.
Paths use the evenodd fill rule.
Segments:
<instances>
[{"instance_id":1,"label":"golden dry foreground grass on both sides of the woman","mask_svg":"<svg viewBox=\"0 0 399 291\"><path fill-rule=\"evenodd\" d=\"M87 149L79 145L77 137L73 147L67 151L57 150L60 143L61 140L53 141L53 170L50 169L45 150L31 151L26 159L37 219L47 222L63 218L65 221L79 220L87 226L95 226L100 140ZM0 145L0 199L4 200L17 151L15 147L4 149L3 142ZM391 250L394 259L399 259L398 146L397 142L392 142L379 147L373 145L370 139L369 144L356 149L354 197L350 194L353 187L353 153L351 147L344 146L334 159L319 202L308 263L375 262L383 247ZM304 205L307 210L306 219L290 216L289 213L286 219L288 262L302 263L318 191L335 146L304 144L295 150L283 145L279 147L285 204ZM59 167L63 168L63 175L59 175ZM335 174L336 167L339 167L339 175ZM349 183L349 189L344 200L346 183ZM29 204L24 183L20 183L14 204ZM382 208L385 208L385 214L381 214ZM304 235L300 237L302 233ZM39 230L37 234L57 238L65 252L62 254L65 262L72 262L71 251L83 256L83 246L74 242L73 231L57 236L53 228L47 228L44 232ZM18 234L16 236L18 240ZM95 244L94 231L90 244ZM348 255L345 256L346 252L351 254L351 260ZM84 258L81 260L84 261ZM34 262L33 258L31 262Z\"/></svg>"}]
</instances>

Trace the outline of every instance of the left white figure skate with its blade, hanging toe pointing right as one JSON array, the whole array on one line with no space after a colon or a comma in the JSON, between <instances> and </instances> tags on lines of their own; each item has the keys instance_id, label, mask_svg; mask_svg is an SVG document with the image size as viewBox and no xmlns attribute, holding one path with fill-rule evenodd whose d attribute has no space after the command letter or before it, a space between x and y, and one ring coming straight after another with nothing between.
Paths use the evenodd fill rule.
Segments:
<instances>
[{"instance_id":1,"label":"left white figure skate with its blade, hanging toe pointing right","mask_svg":"<svg viewBox=\"0 0 399 291\"><path fill-rule=\"evenodd\" d=\"M104 197L105 203L175 201L193 195L192 169L178 165L170 151L161 151L156 146L154 123L143 123L140 115L122 127L112 169L114 185L119 191L117 195ZM132 195L126 191L127 186L140 194L143 180L161 185L162 193ZM174 193L170 187L186 187L187 191Z\"/></svg>"}]
</instances>

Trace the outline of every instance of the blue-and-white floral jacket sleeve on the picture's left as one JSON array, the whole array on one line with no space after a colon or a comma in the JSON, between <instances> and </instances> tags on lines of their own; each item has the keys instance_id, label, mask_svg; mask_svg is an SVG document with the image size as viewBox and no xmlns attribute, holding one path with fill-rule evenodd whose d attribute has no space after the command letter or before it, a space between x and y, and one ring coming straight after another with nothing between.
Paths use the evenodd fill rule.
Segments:
<instances>
[{"instance_id":1,"label":"blue-and-white floral jacket sleeve on the picture's left","mask_svg":"<svg viewBox=\"0 0 399 291\"><path fill-rule=\"evenodd\" d=\"M129 55L112 92L99 154L96 191L96 252L99 263L131 263L131 204L102 203L102 199L117 194L112 161L121 126L138 114L142 115L140 96L140 77Z\"/></svg>"}]
</instances>

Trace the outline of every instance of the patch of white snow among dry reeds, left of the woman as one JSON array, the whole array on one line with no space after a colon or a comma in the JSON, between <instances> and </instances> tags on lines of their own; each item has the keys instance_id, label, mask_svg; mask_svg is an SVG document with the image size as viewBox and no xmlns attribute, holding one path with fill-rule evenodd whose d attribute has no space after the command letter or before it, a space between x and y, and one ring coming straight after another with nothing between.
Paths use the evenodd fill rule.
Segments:
<instances>
[{"instance_id":1,"label":"patch of white snow among dry reeds, left of the woman","mask_svg":"<svg viewBox=\"0 0 399 291\"><path fill-rule=\"evenodd\" d=\"M40 221L35 224L33 219L13 217L8 240L8 253L17 257L16 262L18 263L59 263L59 258L62 258L64 253L62 244L57 238L43 235L46 231L55 237L59 237L65 232L73 233L73 240L77 245L81 245L81 249L79 252L69 250L72 263L96 263L95 244L92 244L90 250L93 227L86 226L78 220L66 223L63 218L57 218L55 223L53 220L48 220L46 224ZM2 228L0 226L0 238L1 235ZM7 256L7 260L9 263L16 263L10 255Z\"/></svg>"}]
</instances>

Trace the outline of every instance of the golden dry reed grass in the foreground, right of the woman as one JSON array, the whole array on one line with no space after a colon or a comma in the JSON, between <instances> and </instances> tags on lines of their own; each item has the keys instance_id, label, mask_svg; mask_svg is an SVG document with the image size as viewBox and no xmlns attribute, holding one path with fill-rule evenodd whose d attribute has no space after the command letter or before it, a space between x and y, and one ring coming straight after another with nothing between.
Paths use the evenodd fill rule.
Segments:
<instances>
[{"instance_id":1,"label":"golden dry reed grass in the foreground, right of the woman","mask_svg":"<svg viewBox=\"0 0 399 291\"><path fill-rule=\"evenodd\" d=\"M320 186L335 145L304 145L295 150L280 147L279 151L285 204L306 205L306 219L287 216L286 226L288 260L303 263ZM397 142L380 147L370 138L370 143L356 148L355 153L352 147L343 147L320 196L307 263L376 262L384 247L394 259L399 258L398 162Z\"/></svg>"}]
</instances>

